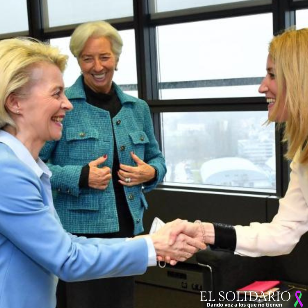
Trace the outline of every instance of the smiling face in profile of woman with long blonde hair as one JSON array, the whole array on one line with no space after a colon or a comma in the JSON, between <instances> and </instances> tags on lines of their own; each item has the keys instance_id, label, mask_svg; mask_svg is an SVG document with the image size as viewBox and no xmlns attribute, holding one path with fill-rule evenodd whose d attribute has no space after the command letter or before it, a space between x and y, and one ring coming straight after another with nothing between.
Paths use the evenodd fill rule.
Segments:
<instances>
[{"instance_id":1,"label":"smiling face in profile of woman with long blonde hair","mask_svg":"<svg viewBox=\"0 0 308 308\"><path fill-rule=\"evenodd\" d=\"M278 87L275 74L275 64L270 55L267 57L266 71L267 74L261 82L259 92L266 96L266 101L268 103L268 118L274 122L285 122L288 119L286 89L282 89L281 102L277 102L278 106L276 106Z\"/></svg>"}]
</instances>

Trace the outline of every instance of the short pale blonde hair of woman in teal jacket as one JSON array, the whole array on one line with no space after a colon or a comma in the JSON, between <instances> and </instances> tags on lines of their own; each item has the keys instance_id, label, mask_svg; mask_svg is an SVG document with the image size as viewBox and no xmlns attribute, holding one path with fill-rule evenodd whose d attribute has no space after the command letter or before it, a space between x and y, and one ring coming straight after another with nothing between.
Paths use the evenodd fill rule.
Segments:
<instances>
[{"instance_id":1,"label":"short pale blonde hair of woman in teal jacket","mask_svg":"<svg viewBox=\"0 0 308 308\"><path fill-rule=\"evenodd\" d=\"M70 40L71 53L79 59L84 45L90 37L105 37L111 43L111 50L114 53L117 62L122 52L123 41L119 32L105 21L86 22L79 25L73 32Z\"/></svg>"}]
</instances>

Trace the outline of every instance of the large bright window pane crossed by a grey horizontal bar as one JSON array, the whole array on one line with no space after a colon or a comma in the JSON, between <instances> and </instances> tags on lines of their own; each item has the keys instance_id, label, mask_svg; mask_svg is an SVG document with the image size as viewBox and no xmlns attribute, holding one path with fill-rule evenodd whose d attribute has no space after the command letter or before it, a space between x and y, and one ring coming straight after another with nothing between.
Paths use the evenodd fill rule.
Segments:
<instances>
[{"instance_id":1,"label":"large bright window pane crossed by a grey horizontal bar","mask_svg":"<svg viewBox=\"0 0 308 308\"><path fill-rule=\"evenodd\" d=\"M260 95L272 24L259 14L157 27L160 98Z\"/></svg>"}]
</instances>

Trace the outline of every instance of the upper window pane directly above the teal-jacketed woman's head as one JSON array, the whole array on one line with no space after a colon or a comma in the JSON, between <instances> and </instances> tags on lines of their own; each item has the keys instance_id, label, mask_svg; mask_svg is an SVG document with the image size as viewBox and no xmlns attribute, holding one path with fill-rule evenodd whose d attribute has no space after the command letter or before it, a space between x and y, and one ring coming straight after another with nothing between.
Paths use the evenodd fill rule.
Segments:
<instances>
[{"instance_id":1,"label":"upper window pane directly above the teal-jacketed woman's head","mask_svg":"<svg viewBox=\"0 0 308 308\"><path fill-rule=\"evenodd\" d=\"M45 27L133 16L132 0L44 0Z\"/></svg>"}]
</instances>

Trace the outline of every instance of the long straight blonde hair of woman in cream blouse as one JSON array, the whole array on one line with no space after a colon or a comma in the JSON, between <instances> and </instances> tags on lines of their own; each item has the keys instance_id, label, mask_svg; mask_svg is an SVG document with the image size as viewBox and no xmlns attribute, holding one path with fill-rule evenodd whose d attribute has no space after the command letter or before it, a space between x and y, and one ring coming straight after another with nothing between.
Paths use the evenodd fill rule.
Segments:
<instances>
[{"instance_id":1,"label":"long straight blonde hair of woman in cream blouse","mask_svg":"<svg viewBox=\"0 0 308 308\"><path fill-rule=\"evenodd\" d=\"M308 28L286 30L270 43L269 55L275 64L278 93L273 120L285 103L288 119L284 141L288 144L286 157L293 159L299 151L299 162L308 163ZM283 91L286 93L283 93ZM282 101L285 95L285 102Z\"/></svg>"}]
</instances>

